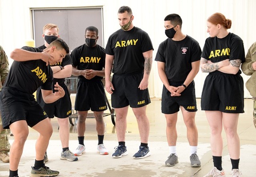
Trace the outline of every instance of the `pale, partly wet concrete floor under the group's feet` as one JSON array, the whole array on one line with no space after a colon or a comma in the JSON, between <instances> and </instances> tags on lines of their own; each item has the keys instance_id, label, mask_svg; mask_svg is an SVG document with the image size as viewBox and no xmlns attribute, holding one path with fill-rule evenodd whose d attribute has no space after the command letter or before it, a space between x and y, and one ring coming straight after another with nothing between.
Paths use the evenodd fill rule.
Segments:
<instances>
[{"instance_id":1,"label":"pale, partly wet concrete floor under the group's feet","mask_svg":"<svg viewBox=\"0 0 256 177\"><path fill-rule=\"evenodd\" d=\"M74 100L72 100L73 102ZM140 136L136 118L132 110L128 112L128 125L126 132L126 146L128 155L119 159L112 158L114 147L118 145L115 127L111 122L111 117L104 118L106 123L106 133L104 144L109 150L109 155L100 155L96 152L97 133L95 130L95 119L86 120L85 146L86 153L78 157L78 161L69 162L60 160L62 150L58 135L58 122L52 120L54 133L48 146L49 161L46 166L53 170L60 171L60 177L202 177L213 167L212 154L210 149L210 128L206 120L204 111L200 110L200 99L197 99L198 112L196 114L196 124L198 128L198 156L201 160L201 167L190 167L190 148L186 138L186 127L184 125L181 112L178 114L177 130L178 143L177 153L179 163L174 167L166 167L164 162L169 155L168 144L166 142L166 120L161 113L161 101L153 99L147 107L147 114L150 120L150 137L148 146L151 156L145 159L133 159L132 155L138 151ZM251 99L245 99L245 113L240 114L238 123L238 134L240 136L241 155L240 170L244 177L256 177L256 129L252 122ZM26 141L22 159L19 165L19 176L28 177L31 166L34 165L35 143L38 134L30 128L30 134ZM231 162L228 155L226 135L223 132L223 168L226 176L231 176ZM10 137L12 143L13 137ZM76 126L70 125L70 150L74 151L78 146ZM8 176L9 165L0 161L0 177Z\"/></svg>"}]
</instances>

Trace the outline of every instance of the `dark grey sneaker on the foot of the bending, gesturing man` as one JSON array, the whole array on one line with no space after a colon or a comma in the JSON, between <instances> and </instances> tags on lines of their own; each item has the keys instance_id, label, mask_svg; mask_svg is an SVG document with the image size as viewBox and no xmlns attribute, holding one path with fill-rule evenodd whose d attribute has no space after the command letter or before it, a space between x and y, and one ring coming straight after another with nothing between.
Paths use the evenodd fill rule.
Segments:
<instances>
[{"instance_id":1,"label":"dark grey sneaker on the foot of the bending, gesturing man","mask_svg":"<svg viewBox=\"0 0 256 177\"><path fill-rule=\"evenodd\" d=\"M49 167L40 167L40 169L35 169L32 167L30 177L52 177L57 176L60 172L51 170Z\"/></svg>"}]
</instances>

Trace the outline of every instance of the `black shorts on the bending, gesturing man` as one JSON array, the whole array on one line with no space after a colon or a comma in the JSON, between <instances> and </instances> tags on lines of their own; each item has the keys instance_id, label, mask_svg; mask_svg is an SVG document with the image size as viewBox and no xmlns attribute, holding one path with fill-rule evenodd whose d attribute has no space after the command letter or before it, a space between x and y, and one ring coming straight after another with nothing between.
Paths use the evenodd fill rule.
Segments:
<instances>
[{"instance_id":1,"label":"black shorts on the bending, gesturing man","mask_svg":"<svg viewBox=\"0 0 256 177\"><path fill-rule=\"evenodd\" d=\"M26 120L28 126L33 127L48 117L33 94L11 87L4 87L0 92L0 110L3 128L6 129L18 120Z\"/></svg>"}]
</instances>

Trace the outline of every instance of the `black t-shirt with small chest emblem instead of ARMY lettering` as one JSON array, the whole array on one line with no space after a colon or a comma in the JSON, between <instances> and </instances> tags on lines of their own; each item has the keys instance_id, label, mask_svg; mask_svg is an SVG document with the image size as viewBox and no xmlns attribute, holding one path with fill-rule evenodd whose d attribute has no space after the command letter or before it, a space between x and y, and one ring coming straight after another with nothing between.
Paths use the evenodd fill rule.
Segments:
<instances>
[{"instance_id":1,"label":"black t-shirt with small chest emblem instead of ARMY lettering","mask_svg":"<svg viewBox=\"0 0 256 177\"><path fill-rule=\"evenodd\" d=\"M165 63L165 73L173 82L183 82L192 69L191 63L200 60L199 43L190 36L182 41L166 39L160 43L155 61Z\"/></svg>"}]
</instances>

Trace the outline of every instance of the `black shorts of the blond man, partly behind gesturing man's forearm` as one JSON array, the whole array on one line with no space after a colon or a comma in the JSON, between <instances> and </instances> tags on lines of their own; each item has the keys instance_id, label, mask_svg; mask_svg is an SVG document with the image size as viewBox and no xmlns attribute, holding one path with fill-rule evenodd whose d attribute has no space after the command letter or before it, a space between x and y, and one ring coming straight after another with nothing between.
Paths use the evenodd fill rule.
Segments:
<instances>
[{"instance_id":1,"label":"black shorts of the blond man, partly behind gesturing man's forearm","mask_svg":"<svg viewBox=\"0 0 256 177\"><path fill-rule=\"evenodd\" d=\"M67 118L72 114L72 104L68 87L64 83L60 86L64 89L65 95L53 103L45 103L42 98L41 89L37 90L37 102L42 106L49 118L54 118L54 116L57 118Z\"/></svg>"}]
</instances>

